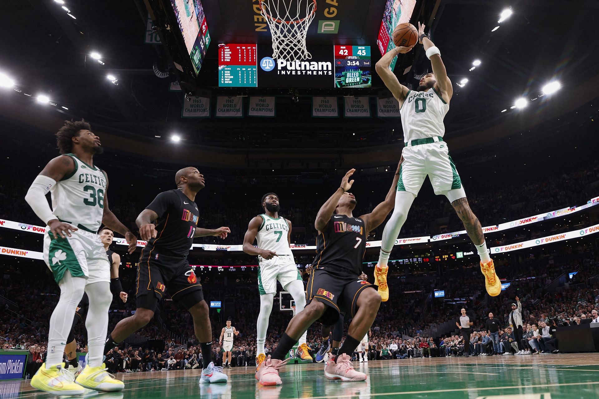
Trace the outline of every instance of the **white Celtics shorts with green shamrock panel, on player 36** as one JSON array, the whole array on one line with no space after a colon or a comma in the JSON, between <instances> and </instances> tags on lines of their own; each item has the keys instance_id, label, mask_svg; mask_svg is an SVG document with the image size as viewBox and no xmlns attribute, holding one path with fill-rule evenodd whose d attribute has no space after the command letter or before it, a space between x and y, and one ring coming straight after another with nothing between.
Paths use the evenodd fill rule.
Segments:
<instances>
[{"instance_id":1,"label":"white Celtics shorts with green shamrock panel, on player 36","mask_svg":"<svg viewBox=\"0 0 599 399\"><path fill-rule=\"evenodd\" d=\"M100 236L79 229L71 237L53 239L50 227L44 233L44 261L55 281L62 280L68 270L73 277L86 278L86 284L110 282L110 263Z\"/></svg>"}]
</instances>

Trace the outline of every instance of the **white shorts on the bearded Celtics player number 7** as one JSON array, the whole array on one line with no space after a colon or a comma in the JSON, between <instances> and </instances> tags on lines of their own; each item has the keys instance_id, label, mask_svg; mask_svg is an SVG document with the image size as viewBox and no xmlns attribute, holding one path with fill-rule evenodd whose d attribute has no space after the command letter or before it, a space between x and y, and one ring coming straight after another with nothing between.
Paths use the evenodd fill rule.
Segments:
<instances>
[{"instance_id":1,"label":"white shorts on the bearded Celtics player number 7","mask_svg":"<svg viewBox=\"0 0 599 399\"><path fill-rule=\"evenodd\" d=\"M276 294L277 280L283 286L283 290L292 281L302 281L292 255L281 255L273 257L271 260L261 260L259 264L258 291L260 295Z\"/></svg>"}]
</instances>

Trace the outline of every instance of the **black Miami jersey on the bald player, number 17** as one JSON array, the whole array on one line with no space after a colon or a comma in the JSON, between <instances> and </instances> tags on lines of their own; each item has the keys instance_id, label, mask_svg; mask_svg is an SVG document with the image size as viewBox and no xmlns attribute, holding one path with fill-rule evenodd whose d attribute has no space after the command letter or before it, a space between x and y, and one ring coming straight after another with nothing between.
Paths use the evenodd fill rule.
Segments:
<instances>
[{"instance_id":1,"label":"black Miami jersey on the bald player, number 17","mask_svg":"<svg viewBox=\"0 0 599 399\"><path fill-rule=\"evenodd\" d=\"M196 203L177 189L158 194L146 209L158 215L156 238L148 241L146 249L155 250L155 254L186 257L199 219Z\"/></svg>"}]
</instances>

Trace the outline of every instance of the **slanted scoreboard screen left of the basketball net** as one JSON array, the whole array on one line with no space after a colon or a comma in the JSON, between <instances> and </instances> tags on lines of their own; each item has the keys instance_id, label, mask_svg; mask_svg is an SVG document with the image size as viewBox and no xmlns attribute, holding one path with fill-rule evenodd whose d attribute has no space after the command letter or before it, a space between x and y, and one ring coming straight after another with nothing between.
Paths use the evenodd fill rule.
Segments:
<instances>
[{"instance_id":1,"label":"slanted scoreboard screen left of the basketball net","mask_svg":"<svg viewBox=\"0 0 599 399\"><path fill-rule=\"evenodd\" d=\"M204 15L204 7L200 0L171 0L171 6L197 75L206 56L208 44L210 44L210 33Z\"/></svg>"}]
</instances>

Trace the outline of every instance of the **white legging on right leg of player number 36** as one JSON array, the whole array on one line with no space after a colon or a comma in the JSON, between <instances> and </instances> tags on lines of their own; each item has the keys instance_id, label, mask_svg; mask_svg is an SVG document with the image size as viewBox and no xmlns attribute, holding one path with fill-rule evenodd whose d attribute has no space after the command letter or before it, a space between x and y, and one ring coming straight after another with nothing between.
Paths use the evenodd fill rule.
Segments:
<instances>
[{"instance_id":1,"label":"white legging on right leg of player number 36","mask_svg":"<svg viewBox=\"0 0 599 399\"><path fill-rule=\"evenodd\" d=\"M100 367L104 361L104 344L108 333L108 309L112 301L110 282L100 281L87 284L89 310L85 319L87 330L87 354L89 367Z\"/></svg>"}]
</instances>

